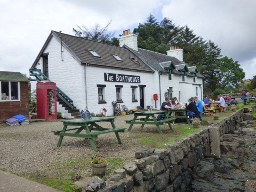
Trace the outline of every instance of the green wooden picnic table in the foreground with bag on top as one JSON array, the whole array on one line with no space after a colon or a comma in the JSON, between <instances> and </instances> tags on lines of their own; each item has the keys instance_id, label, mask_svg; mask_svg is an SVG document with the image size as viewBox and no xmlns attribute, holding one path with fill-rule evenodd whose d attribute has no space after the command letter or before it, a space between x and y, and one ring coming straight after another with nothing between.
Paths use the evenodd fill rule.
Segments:
<instances>
[{"instance_id":1,"label":"green wooden picnic table in the foreground with bag on top","mask_svg":"<svg viewBox=\"0 0 256 192\"><path fill-rule=\"evenodd\" d=\"M60 146L64 136L81 137L81 138L89 139L92 149L94 151L98 151L93 139L97 139L98 135L100 134L114 132L116 134L116 138L118 142L122 144L122 141L118 132L124 132L126 128L123 128L123 127L116 128L114 124L115 118L116 117L94 117L92 119L86 119L86 120L82 120L82 119L64 120L64 121L61 121L63 122L63 129L55 130L52 132L54 132L54 135L60 136L57 144L58 147ZM99 122L110 122L112 128L103 128L98 124ZM70 127L70 126L75 126L75 127ZM74 133L67 132L71 130L76 130L76 131ZM85 130L86 134L81 134L80 132L82 132L82 130ZM97 131L97 132L92 132L92 131Z\"/></svg>"}]
</instances>

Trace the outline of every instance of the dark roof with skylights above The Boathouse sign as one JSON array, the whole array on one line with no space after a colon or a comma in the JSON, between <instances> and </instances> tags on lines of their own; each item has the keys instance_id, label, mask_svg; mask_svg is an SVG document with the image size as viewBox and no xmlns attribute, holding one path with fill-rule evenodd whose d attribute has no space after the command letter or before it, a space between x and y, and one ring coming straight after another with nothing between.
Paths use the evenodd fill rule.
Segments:
<instances>
[{"instance_id":1,"label":"dark roof with skylights above The Boathouse sign","mask_svg":"<svg viewBox=\"0 0 256 192\"><path fill-rule=\"evenodd\" d=\"M80 64L89 64L102 67L120 68L126 70L135 70L142 72L153 73L148 65L140 60L135 54L130 52L127 48L113 46L110 44L96 42L81 37L76 37L56 31L52 31L46 40L42 50L38 54L32 68L36 65L37 60L44 53L44 48L48 44L52 36L56 37L59 41L62 39L62 45L65 46L69 52L80 62ZM94 57L88 50L94 50L100 58ZM118 55L123 61L118 61L112 54ZM139 61L140 64L136 64L131 58Z\"/></svg>"}]
</instances>

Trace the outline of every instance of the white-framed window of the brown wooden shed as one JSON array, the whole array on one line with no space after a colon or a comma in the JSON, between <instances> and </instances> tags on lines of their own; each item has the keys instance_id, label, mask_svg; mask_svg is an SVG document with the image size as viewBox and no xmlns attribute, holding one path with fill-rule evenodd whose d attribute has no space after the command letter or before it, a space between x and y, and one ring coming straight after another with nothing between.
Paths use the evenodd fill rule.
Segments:
<instances>
[{"instance_id":1,"label":"white-framed window of the brown wooden shed","mask_svg":"<svg viewBox=\"0 0 256 192\"><path fill-rule=\"evenodd\" d=\"M0 81L0 101L20 99L20 82Z\"/></svg>"}]
</instances>

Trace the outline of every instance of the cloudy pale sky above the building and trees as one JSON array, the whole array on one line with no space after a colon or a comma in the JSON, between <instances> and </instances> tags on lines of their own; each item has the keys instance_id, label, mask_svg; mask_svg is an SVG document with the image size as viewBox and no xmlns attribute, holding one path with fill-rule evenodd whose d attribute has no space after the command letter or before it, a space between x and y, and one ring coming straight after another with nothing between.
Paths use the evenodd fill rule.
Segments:
<instances>
[{"instance_id":1,"label":"cloudy pale sky above the building and trees","mask_svg":"<svg viewBox=\"0 0 256 192\"><path fill-rule=\"evenodd\" d=\"M245 79L256 75L256 0L0 0L0 71L29 76L51 30L74 35L77 26L105 26L115 37L146 22L150 13L211 40L238 61Z\"/></svg>"}]
</instances>

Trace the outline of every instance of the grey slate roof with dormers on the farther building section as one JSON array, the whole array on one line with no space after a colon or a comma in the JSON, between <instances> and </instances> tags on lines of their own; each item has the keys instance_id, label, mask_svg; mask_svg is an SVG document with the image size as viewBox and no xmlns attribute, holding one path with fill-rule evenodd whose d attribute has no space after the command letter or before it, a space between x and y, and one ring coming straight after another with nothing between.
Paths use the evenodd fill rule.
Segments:
<instances>
[{"instance_id":1,"label":"grey slate roof with dormers on the farther building section","mask_svg":"<svg viewBox=\"0 0 256 192\"><path fill-rule=\"evenodd\" d=\"M124 47L129 48L127 46L124 46ZM188 72L186 73L188 76L194 76L194 74L191 72L196 72L196 76L204 78L202 74L198 73L196 66L189 66L185 62L180 61L175 57L150 51L150 50L146 50L146 49L142 49L142 48L138 48L138 51L134 51L134 50L131 50L131 51L134 52L134 54L136 54L141 60L143 60L145 63L149 64L159 72L169 73L166 68L172 62L176 67L176 69L173 70L175 74L182 75L183 73L178 70L182 70L184 69L184 67L186 67L188 68Z\"/></svg>"}]
</instances>

